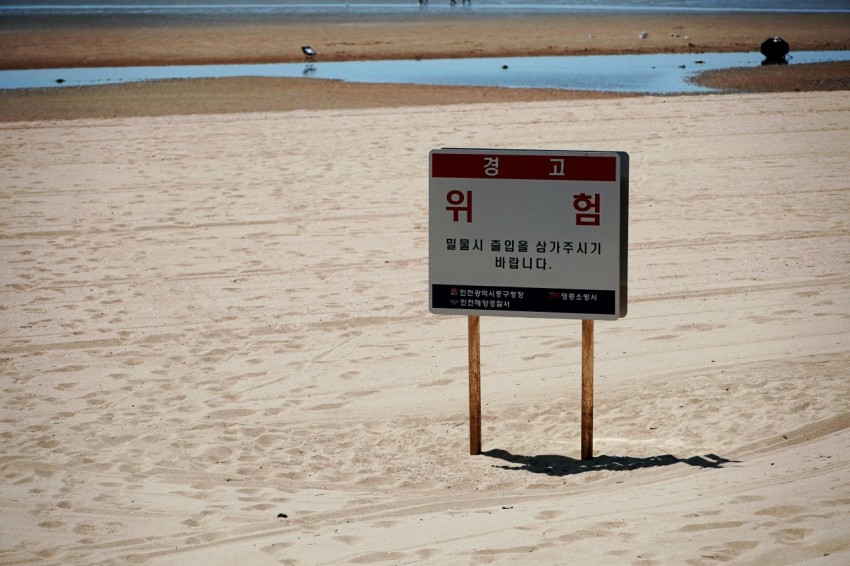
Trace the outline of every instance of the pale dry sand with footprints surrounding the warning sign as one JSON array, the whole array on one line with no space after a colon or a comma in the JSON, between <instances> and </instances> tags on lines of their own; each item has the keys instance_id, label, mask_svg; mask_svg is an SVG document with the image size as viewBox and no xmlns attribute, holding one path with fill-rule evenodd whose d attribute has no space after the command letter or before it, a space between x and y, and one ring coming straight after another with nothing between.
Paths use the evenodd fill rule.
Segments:
<instances>
[{"instance_id":1,"label":"pale dry sand with footprints surrounding the warning sign","mask_svg":"<svg viewBox=\"0 0 850 566\"><path fill-rule=\"evenodd\" d=\"M847 564L842 74L215 111L96 87L79 103L112 114L76 118L23 93L0 124L0 563ZM592 460L570 320L482 317L468 454L466 318L427 304L440 147L631 156Z\"/></svg>"}]
</instances>

